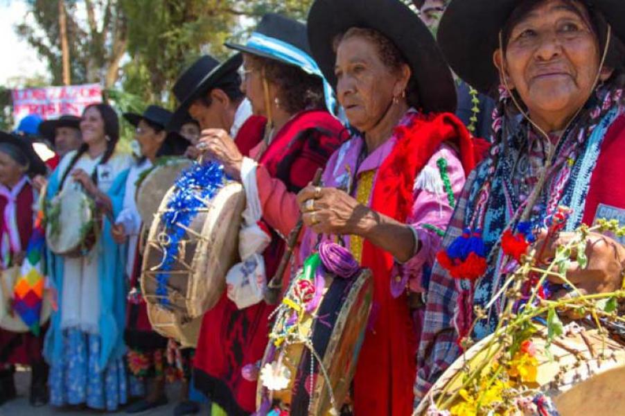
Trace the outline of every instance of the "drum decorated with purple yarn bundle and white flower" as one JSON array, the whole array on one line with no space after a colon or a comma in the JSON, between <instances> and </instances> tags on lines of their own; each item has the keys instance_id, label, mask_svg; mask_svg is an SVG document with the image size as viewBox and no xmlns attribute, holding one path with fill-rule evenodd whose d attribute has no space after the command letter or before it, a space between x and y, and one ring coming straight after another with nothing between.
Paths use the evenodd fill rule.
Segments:
<instances>
[{"instance_id":1,"label":"drum decorated with purple yarn bundle and white flower","mask_svg":"<svg viewBox=\"0 0 625 416\"><path fill-rule=\"evenodd\" d=\"M355 372L372 297L368 269L361 269L340 245L319 245L274 311L258 380L258 414L339 414Z\"/></svg>"}]
</instances>

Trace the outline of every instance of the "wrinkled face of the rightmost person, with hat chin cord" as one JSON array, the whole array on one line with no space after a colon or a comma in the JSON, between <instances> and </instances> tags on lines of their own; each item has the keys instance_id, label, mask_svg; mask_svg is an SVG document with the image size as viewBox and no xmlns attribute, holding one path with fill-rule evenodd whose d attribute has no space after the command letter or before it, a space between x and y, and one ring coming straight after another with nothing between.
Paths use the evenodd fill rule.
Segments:
<instances>
[{"instance_id":1,"label":"wrinkled face of the rightmost person, with hat chin cord","mask_svg":"<svg viewBox=\"0 0 625 416\"><path fill-rule=\"evenodd\" d=\"M586 15L579 3L547 0L513 27L504 56L507 79L531 115L572 115L592 93L600 51Z\"/></svg>"}]
</instances>

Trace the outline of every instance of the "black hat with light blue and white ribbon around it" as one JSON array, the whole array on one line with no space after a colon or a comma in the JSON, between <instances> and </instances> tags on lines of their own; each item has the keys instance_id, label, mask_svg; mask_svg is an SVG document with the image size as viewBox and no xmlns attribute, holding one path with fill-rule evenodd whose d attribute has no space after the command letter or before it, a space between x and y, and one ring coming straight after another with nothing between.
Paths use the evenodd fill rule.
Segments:
<instances>
[{"instance_id":1,"label":"black hat with light blue and white ribbon around it","mask_svg":"<svg viewBox=\"0 0 625 416\"><path fill-rule=\"evenodd\" d=\"M290 46L294 46L310 55L310 46L308 46L308 35L306 33L306 25L297 20L289 19L283 15L276 13L267 13L264 15L258 26L254 29L254 34L270 37L279 40ZM226 42L225 46L236 51L258 55L263 58L278 60L285 64L292 65L292 62L281 57L281 53L274 48L261 48L256 44L234 44Z\"/></svg>"}]
</instances>

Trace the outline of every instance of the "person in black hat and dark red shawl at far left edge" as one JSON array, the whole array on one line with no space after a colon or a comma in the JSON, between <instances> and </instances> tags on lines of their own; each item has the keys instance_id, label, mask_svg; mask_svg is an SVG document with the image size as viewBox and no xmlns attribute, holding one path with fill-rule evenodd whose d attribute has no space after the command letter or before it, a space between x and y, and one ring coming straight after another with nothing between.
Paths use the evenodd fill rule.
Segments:
<instances>
[{"instance_id":1,"label":"person in black hat and dark red shawl at far left edge","mask_svg":"<svg viewBox=\"0 0 625 416\"><path fill-rule=\"evenodd\" d=\"M37 202L37 191L29 178L45 173L46 166L29 139L0 132L0 261L3 270L21 266L24 261L33 234L36 215L33 207ZM10 291L0 293L0 296L8 296L3 300L6 305L13 300L14 288L4 289ZM21 295L26 296L26 293ZM20 312L21 309L15 309L11 313L21 316ZM13 373L17 364L29 365L32 369L30 404L42 406L48 402L48 366L42 356L45 329L39 329L38 318L38 335L31 331L15 333L0 329L0 406L15 398Z\"/></svg>"}]
</instances>

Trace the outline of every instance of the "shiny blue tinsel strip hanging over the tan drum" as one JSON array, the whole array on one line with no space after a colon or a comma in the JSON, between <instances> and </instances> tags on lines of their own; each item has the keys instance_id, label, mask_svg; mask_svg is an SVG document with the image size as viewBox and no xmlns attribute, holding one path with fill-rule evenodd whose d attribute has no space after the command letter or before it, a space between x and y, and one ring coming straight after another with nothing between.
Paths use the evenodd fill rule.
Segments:
<instances>
[{"instance_id":1,"label":"shiny blue tinsel strip hanging over the tan drum","mask_svg":"<svg viewBox=\"0 0 625 416\"><path fill-rule=\"evenodd\" d=\"M196 162L179 175L175 182L176 192L167 202L168 211L161 216L164 225L162 232L169 237L161 272L167 272L174 266L180 239L186 234L186 231L177 224L188 227L197 215L198 209L206 208L202 200L211 200L226 181L223 166L213 162L209 164ZM159 302L163 306L170 306L167 297L169 278L169 273L157 275L156 294L161 296Z\"/></svg>"}]
</instances>

